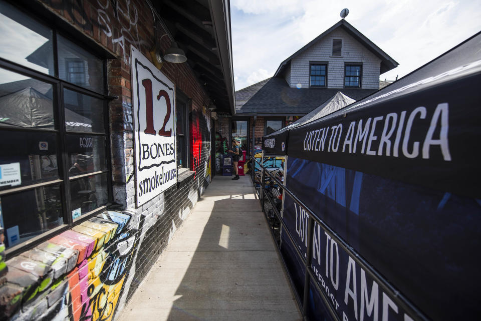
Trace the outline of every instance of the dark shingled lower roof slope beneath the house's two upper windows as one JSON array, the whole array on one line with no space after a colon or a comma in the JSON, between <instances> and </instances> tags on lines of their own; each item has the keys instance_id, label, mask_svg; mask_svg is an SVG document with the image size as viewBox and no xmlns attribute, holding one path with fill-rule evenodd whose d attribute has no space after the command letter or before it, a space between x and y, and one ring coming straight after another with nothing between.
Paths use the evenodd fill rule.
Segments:
<instances>
[{"instance_id":1,"label":"dark shingled lower roof slope beneath the house's two upper windows","mask_svg":"<svg viewBox=\"0 0 481 321\"><path fill-rule=\"evenodd\" d=\"M273 77L235 92L236 115L305 115L338 91L360 100L377 89L291 88L284 78Z\"/></svg>"}]
</instances>

